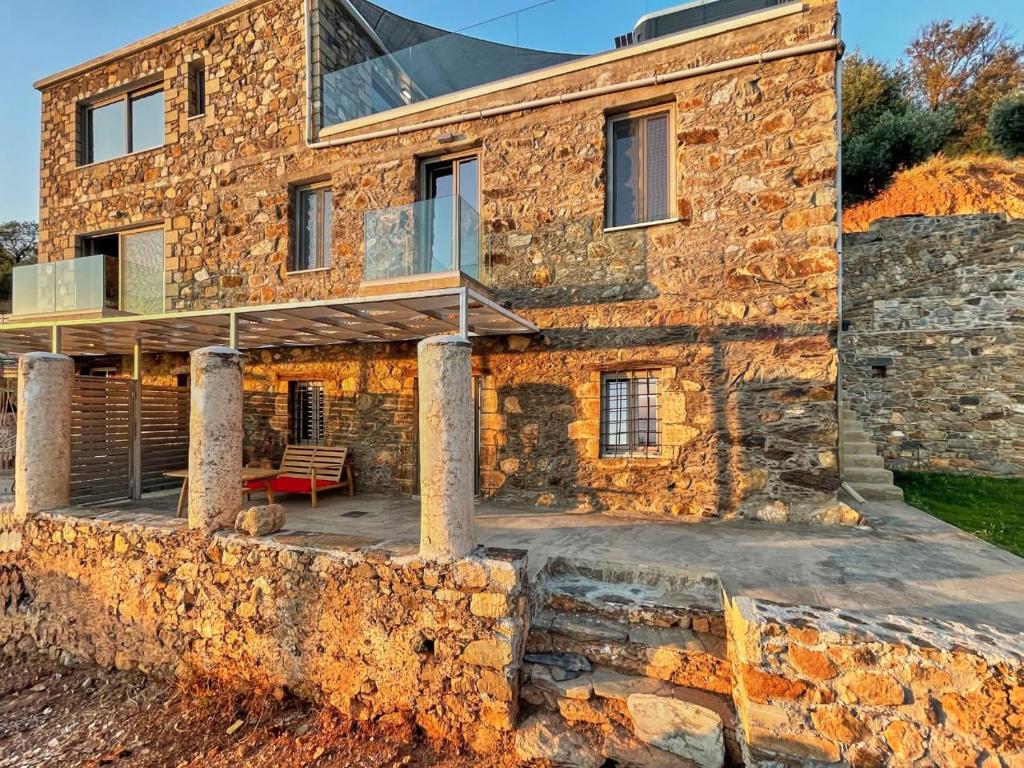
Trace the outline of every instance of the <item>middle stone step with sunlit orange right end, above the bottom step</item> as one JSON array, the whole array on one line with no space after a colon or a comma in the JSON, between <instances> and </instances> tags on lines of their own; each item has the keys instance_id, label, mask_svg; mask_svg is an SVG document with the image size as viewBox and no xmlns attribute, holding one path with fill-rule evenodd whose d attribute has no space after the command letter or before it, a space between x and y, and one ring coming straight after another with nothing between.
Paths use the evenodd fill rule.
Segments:
<instances>
[{"instance_id":1,"label":"middle stone step with sunlit orange right end, above the bottom step","mask_svg":"<svg viewBox=\"0 0 1024 768\"><path fill-rule=\"evenodd\" d=\"M531 622L526 650L530 654L578 654L593 667L715 693L732 690L725 638L691 628L543 610Z\"/></svg>"}]
</instances>

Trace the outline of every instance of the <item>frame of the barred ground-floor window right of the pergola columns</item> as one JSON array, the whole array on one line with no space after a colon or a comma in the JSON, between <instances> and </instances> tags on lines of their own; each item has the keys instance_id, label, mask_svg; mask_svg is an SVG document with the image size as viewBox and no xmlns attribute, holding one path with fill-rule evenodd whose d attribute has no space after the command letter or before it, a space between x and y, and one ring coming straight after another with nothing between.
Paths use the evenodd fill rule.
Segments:
<instances>
[{"instance_id":1,"label":"frame of the barred ground-floor window right of the pergola columns","mask_svg":"<svg viewBox=\"0 0 1024 768\"><path fill-rule=\"evenodd\" d=\"M598 411L600 424L598 425L598 456L601 459L660 459L662 450L665 444L663 404L662 404L662 377L660 370L656 368L638 368L622 371L606 371L601 373ZM640 393L638 382L647 382L646 392ZM612 412L608 385L616 382L626 382L626 435L627 442L624 446L610 444L610 419ZM650 391L650 382L654 382L654 391ZM639 415L640 409L638 399L642 396L653 397L653 403L648 403L646 418ZM653 406L654 416L650 417L649 409ZM640 430L641 421L653 422L654 430L651 432L650 426ZM617 434L617 433L616 433ZM654 437L653 443L643 442L639 436L646 435L649 439Z\"/></svg>"}]
</instances>

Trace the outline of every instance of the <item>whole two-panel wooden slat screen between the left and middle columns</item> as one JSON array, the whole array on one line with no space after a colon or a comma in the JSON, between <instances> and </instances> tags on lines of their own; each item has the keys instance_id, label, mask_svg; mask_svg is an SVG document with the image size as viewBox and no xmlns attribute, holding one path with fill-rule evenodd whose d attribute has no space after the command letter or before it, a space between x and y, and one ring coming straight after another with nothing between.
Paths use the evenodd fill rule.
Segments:
<instances>
[{"instance_id":1,"label":"whole two-panel wooden slat screen between the left and middle columns","mask_svg":"<svg viewBox=\"0 0 1024 768\"><path fill-rule=\"evenodd\" d=\"M188 466L187 387L76 376L72 391L71 501L137 499L174 487Z\"/></svg>"}]
</instances>

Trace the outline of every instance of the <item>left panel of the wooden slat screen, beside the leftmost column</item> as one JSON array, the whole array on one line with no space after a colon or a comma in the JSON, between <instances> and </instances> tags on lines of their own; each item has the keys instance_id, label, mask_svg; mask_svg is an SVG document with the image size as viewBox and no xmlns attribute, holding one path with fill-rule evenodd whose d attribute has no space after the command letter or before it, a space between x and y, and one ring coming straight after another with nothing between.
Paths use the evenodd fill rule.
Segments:
<instances>
[{"instance_id":1,"label":"left panel of the wooden slat screen, beside the leftmost column","mask_svg":"<svg viewBox=\"0 0 1024 768\"><path fill-rule=\"evenodd\" d=\"M71 501L129 497L134 382L76 376L71 407Z\"/></svg>"}]
</instances>

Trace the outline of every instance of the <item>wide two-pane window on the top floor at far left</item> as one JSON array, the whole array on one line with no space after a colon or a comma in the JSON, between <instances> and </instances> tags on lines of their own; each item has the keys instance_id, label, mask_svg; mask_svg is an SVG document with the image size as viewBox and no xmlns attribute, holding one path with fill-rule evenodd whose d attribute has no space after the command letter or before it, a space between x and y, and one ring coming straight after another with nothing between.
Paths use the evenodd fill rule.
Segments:
<instances>
[{"instance_id":1,"label":"wide two-pane window on the top floor at far left","mask_svg":"<svg viewBox=\"0 0 1024 768\"><path fill-rule=\"evenodd\" d=\"M101 163L164 143L164 92L146 88L83 111L83 163Z\"/></svg>"}]
</instances>

